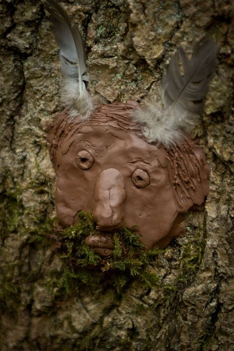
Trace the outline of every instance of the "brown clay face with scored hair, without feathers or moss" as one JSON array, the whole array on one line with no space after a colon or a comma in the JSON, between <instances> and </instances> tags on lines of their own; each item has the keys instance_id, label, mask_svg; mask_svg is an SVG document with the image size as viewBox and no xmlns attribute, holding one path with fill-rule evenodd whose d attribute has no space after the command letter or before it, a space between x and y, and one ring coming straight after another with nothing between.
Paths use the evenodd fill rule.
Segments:
<instances>
[{"instance_id":1,"label":"brown clay face with scored hair, without feathers or moss","mask_svg":"<svg viewBox=\"0 0 234 351\"><path fill-rule=\"evenodd\" d=\"M70 226L78 211L90 211L100 236L86 244L106 257L114 248L112 231L123 224L137 225L148 249L164 248L184 235L184 214L208 194L203 150L188 135L168 149L148 143L130 118L137 106L97 106L82 123L62 113L47 136L57 217Z\"/></svg>"}]
</instances>

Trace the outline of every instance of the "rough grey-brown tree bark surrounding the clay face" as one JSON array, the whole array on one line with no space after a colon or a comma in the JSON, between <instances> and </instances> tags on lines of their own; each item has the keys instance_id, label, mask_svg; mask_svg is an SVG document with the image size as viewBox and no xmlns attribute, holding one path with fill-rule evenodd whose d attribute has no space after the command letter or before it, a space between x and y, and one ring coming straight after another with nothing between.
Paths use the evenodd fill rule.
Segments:
<instances>
[{"instance_id":1,"label":"rough grey-brown tree bark surrounding the clay face","mask_svg":"<svg viewBox=\"0 0 234 351\"><path fill-rule=\"evenodd\" d=\"M57 294L64 268L37 241L54 217L55 175L45 122L60 111L58 48L37 0L0 1L0 349L234 350L232 65L229 0L75 0L62 5L87 44L90 91L104 103L159 94L182 45L220 44L219 67L194 136L211 166L204 208L187 217L152 269L154 290L134 282L119 296Z\"/></svg>"}]
</instances>

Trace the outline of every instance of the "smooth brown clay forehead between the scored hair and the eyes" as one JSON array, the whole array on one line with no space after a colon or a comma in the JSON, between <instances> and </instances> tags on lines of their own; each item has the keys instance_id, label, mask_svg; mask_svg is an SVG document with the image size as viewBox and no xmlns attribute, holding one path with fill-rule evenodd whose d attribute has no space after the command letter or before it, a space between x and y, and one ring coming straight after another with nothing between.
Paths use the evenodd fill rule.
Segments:
<instances>
[{"instance_id":1,"label":"smooth brown clay forehead between the scored hair and the eyes","mask_svg":"<svg viewBox=\"0 0 234 351\"><path fill-rule=\"evenodd\" d=\"M122 130L107 121L99 126L88 123L77 128L76 133L62 146L62 153L76 154L85 149L94 156L105 156L108 153L124 153L126 161L146 163L166 167L166 153L156 145L149 144L135 132Z\"/></svg>"}]
</instances>

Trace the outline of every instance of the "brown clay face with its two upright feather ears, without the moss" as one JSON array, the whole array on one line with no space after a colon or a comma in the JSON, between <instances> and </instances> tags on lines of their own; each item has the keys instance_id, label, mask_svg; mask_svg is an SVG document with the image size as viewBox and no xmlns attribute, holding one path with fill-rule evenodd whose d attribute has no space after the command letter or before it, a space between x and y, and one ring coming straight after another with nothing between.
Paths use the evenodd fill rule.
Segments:
<instances>
[{"instance_id":1,"label":"brown clay face with its two upright feather ears, without the moss","mask_svg":"<svg viewBox=\"0 0 234 351\"><path fill-rule=\"evenodd\" d=\"M208 194L205 154L186 131L203 104L216 66L217 46L208 41L202 49L196 49L197 55L190 61L181 50L183 76L178 73L178 54L176 62L171 60L164 77L164 104L169 106L165 111L152 104L141 110L133 101L93 105L84 84L80 85L81 79L86 80L82 76L86 68L75 80L74 66L67 72L74 55L61 47L58 39L67 14L55 1L50 2L49 11L55 18L65 86L69 85L65 95L70 103L70 111L57 116L47 136L57 174L57 217L66 227L76 222L79 211L90 211L99 234L86 238L86 244L104 257L110 256L114 248L113 232L123 225L136 226L147 249L155 245L164 248L174 236L184 235L184 214L194 204L201 205ZM66 31L68 27L72 30L67 17L66 21ZM210 56L207 52L211 48ZM196 66L194 73L191 67L197 58L203 63ZM79 63L79 59L75 62ZM205 80L201 77L203 71ZM191 72L193 79L187 81ZM176 77L172 79L173 75ZM196 80L202 82L198 90Z\"/></svg>"}]
</instances>

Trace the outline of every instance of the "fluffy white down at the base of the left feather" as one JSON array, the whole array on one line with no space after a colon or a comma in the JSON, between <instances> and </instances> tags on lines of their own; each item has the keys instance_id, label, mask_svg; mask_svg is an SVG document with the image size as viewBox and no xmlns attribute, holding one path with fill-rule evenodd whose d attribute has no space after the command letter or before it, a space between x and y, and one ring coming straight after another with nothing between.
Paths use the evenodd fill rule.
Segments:
<instances>
[{"instance_id":1,"label":"fluffy white down at the base of the left feather","mask_svg":"<svg viewBox=\"0 0 234 351\"><path fill-rule=\"evenodd\" d=\"M82 84L84 85L83 82ZM80 93L79 82L74 78L63 79L61 100L69 110L71 119L76 117L80 121L88 120L94 107L89 92L84 87Z\"/></svg>"}]
</instances>

